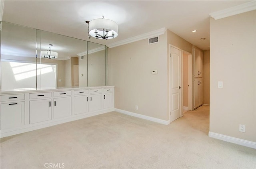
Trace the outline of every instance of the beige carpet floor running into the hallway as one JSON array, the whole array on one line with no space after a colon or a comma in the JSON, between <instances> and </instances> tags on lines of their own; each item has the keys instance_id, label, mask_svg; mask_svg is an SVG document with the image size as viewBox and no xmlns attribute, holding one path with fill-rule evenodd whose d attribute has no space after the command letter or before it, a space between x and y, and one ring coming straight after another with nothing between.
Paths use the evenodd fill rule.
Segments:
<instances>
[{"instance_id":1,"label":"beige carpet floor running into the hallway","mask_svg":"<svg viewBox=\"0 0 256 169\"><path fill-rule=\"evenodd\" d=\"M256 168L256 150L208 137L209 106L169 125L110 112L1 139L1 168ZM54 165L53 165L54 163Z\"/></svg>"}]
</instances>

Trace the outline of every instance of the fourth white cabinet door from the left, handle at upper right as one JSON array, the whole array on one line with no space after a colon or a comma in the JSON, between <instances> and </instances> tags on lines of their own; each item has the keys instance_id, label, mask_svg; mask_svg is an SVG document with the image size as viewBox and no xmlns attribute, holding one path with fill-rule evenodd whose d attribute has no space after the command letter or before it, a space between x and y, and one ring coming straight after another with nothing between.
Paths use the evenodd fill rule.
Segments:
<instances>
[{"instance_id":1,"label":"fourth white cabinet door from the left, handle at upper right","mask_svg":"<svg viewBox=\"0 0 256 169\"><path fill-rule=\"evenodd\" d=\"M88 112L88 108L89 108L88 95L74 97L74 114L86 113Z\"/></svg>"}]
</instances>

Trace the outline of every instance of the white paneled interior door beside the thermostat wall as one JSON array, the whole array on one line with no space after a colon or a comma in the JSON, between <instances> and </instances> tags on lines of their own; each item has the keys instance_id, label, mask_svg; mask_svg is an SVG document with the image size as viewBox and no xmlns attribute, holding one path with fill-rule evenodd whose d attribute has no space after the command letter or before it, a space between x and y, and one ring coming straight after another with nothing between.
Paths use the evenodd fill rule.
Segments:
<instances>
[{"instance_id":1,"label":"white paneled interior door beside the thermostat wall","mask_svg":"<svg viewBox=\"0 0 256 169\"><path fill-rule=\"evenodd\" d=\"M170 122L181 117L181 49L170 45Z\"/></svg>"}]
</instances>

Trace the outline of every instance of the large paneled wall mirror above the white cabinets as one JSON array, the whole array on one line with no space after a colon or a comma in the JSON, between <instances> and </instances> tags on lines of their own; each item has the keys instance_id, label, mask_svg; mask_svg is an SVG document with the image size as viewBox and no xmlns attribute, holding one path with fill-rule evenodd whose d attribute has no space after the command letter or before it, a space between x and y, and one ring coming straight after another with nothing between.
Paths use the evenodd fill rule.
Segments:
<instances>
[{"instance_id":1,"label":"large paneled wall mirror above the white cabinets","mask_svg":"<svg viewBox=\"0 0 256 169\"><path fill-rule=\"evenodd\" d=\"M1 90L107 85L107 47L1 23Z\"/></svg>"}]
</instances>

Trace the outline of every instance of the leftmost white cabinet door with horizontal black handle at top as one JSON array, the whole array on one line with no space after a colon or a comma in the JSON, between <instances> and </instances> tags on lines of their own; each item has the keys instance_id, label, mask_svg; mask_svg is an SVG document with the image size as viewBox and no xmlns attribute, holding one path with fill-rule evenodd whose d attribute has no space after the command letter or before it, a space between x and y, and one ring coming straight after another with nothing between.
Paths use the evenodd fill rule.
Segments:
<instances>
[{"instance_id":1,"label":"leftmost white cabinet door with horizontal black handle at top","mask_svg":"<svg viewBox=\"0 0 256 169\"><path fill-rule=\"evenodd\" d=\"M25 102L1 104L1 130L19 128L25 122Z\"/></svg>"}]
</instances>

